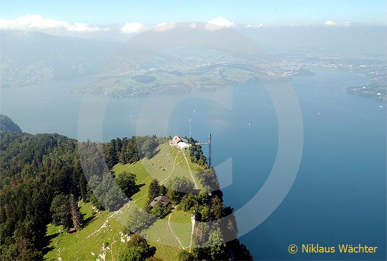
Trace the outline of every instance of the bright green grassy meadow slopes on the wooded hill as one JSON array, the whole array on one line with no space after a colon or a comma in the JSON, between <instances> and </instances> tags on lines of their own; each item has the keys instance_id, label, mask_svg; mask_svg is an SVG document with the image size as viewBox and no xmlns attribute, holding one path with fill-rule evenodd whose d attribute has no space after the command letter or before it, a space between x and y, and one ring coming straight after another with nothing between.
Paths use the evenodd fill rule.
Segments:
<instances>
[{"instance_id":1,"label":"bright green grassy meadow slopes on the wooded hill","mask_svg":"<svg viewBox=\"0 0 387 261\"><path fill-rule=\"evenodd\" d=\"M158 151L159 150L159 151ZM85 226L79 231L67 234L61 227L50 224L47 239L49 240L48 252L44 255L48 260L116 260L120 251L128 241L125 222L130 213L136 208L143 208L147 203L148 185L152 179L158 179L161 184L174 177L187 177L192 179L198 188L201 184L196 177L196 172L202 166L192 163L189 151L178 151L168 143L161 144L158 153L151 159L143 158L135 164L117 164L113 170L116 176L123 171L132 172L137 176L137 184L141 186L132 200L118 211L95 212L90 203L82 203L81 212L86 220ZM188 166L183 153L186 153ZM168 225L169 218L169 225ZM158 219L143 234L150 245L156 246L155 256L163 260L176 259L178 251L189 248L191 237L191 213L174 209L167 217ZM176 238L177 237L177 238ZM104 247L105 244L105 247ZM182 246L181 246L181 245Z\"/></svg>"}]
</instances>

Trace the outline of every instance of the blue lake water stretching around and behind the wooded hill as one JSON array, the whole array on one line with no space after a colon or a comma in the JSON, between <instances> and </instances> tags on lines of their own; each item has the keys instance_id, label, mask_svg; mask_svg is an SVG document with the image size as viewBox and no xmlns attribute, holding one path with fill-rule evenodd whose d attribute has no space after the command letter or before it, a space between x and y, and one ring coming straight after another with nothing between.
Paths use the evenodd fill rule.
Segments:
<instances>
[{"instance_id":1,"label":"blue lake water stretching around and behind the wooded hill","mask_svg":"<svg viewBox=\"0 0 387 261\"><path fill-rule=\"evenodd\" d=\"M345 91L368 82L359 75L341 69L311 69L315 76L292 80L304 123L304 151L295 183L278 208L240 240L260 260L385 260L386 104ZM2 89L1 112L25 132L79 138L79 125L87 125L86 119L79 119L85 96L70 90L91 81ZM278 123L261 85L151 98L87 96L87 102L90 115L99 104L107 106L96 114L104 118L101 129L89 129L82 139L188 136L189 118L192 137L205 141L211 132L213 165L232 159L232 184L223 192L226 205L235 210L259 191L273 166ZM171 110L165 111L168 106ZM361 243L378 250L372 254L288 252L289 244L300 248L303 243L336 248L338 243Z\"/></svg>"}]
</instances>

